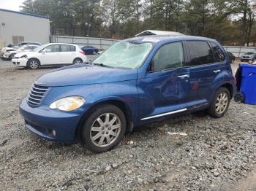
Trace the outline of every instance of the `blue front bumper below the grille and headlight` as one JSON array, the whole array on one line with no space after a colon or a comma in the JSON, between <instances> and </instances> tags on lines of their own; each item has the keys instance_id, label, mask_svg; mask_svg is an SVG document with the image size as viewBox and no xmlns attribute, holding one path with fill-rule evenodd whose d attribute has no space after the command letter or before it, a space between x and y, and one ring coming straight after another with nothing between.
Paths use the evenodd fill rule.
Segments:
<instances>
[{"instance_id":1,"label":"blue front bumper below the grille and headlight","mask_svg":"<svg viewBox=\"0 0 256 191\"><path fill-rule=\"evenodd\" d=\"M51 141L72 142L75 140L75 130L81 118L80 114L49 109L46 105L31 107L26 99L23 98L20 101L20 114L25 119L26 128L37 136Z\"/></svg>"}]
</instances>

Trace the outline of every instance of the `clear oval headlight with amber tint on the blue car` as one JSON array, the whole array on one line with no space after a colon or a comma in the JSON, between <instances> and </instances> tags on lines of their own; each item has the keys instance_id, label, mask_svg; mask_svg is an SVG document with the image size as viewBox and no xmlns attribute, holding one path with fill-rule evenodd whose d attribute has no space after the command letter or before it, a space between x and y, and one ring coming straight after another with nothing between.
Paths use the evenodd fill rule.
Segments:
<instances>
[{"instance_id":1,"label":"clear oval headlight with amber tint on the blue car","mask_svg":"<svg viewBox=\"0 0 256 191\"><path fill-rule=\"evenodd\" d=\"M86 101L80 96L70 96L66 98L61 98L50 104L50 109L59 109L61 111L70 112L78 109Z\"/></svg>"}]
</instances>

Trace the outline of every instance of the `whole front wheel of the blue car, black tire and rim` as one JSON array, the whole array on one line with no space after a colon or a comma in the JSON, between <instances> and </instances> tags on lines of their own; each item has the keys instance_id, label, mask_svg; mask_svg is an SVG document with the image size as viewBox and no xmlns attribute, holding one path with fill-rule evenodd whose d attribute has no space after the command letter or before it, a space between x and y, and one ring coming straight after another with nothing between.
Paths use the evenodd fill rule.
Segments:
<instances>
[{"instance_id":1,"label":"whole front wheel of the blue car, black tire and rim","mask_svg":"<svg viewBox=\"0 0 256 191\"><path fill-rule=\"evenodd\" d=\"M89 117L86 117L86 122L80 130L80 142L91 152L106 152L116 147L121 141L126 128L127 120L124 112L117 106L104 104L98 106Z\"/></svg>"}]
</instances>

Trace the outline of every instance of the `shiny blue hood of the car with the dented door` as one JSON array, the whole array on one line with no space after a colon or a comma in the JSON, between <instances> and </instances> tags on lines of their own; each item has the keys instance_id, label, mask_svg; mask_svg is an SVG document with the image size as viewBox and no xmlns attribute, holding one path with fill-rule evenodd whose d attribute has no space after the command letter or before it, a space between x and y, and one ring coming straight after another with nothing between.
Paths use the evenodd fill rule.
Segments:
<instances>
[{"instance_id":1,"label":"shiny blue hood of the car with the dented door","mask_svg":"<svg viewBox=\"0 0 256 191\"><path fill-rule=\"evenodd\" d=\"M137 70L111 69L89 64L62 67L42 75L36 84L49 87L67 85L92 85L137 79Z\"/></svg>"}]
</instances>

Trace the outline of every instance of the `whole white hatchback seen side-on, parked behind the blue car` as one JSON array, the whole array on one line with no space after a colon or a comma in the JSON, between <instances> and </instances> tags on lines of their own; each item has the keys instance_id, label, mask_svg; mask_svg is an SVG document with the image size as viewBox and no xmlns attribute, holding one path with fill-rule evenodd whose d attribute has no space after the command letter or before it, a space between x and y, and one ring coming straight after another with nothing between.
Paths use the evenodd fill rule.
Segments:
<instances>
[{"instance_id":1,"label":"whole white hatchback seen side-on, parked behind the blue car","mask_svg":"<svg viewBox=\"0 0 256 191\"><path fill-rule=\"evenodd\" d=\"M37 47L31 52L20 52L12 58L15 66L38 69L39 66L56 66L87 63L83 50L75 44L50 43Z\"/></svg>"}]
</instances>

